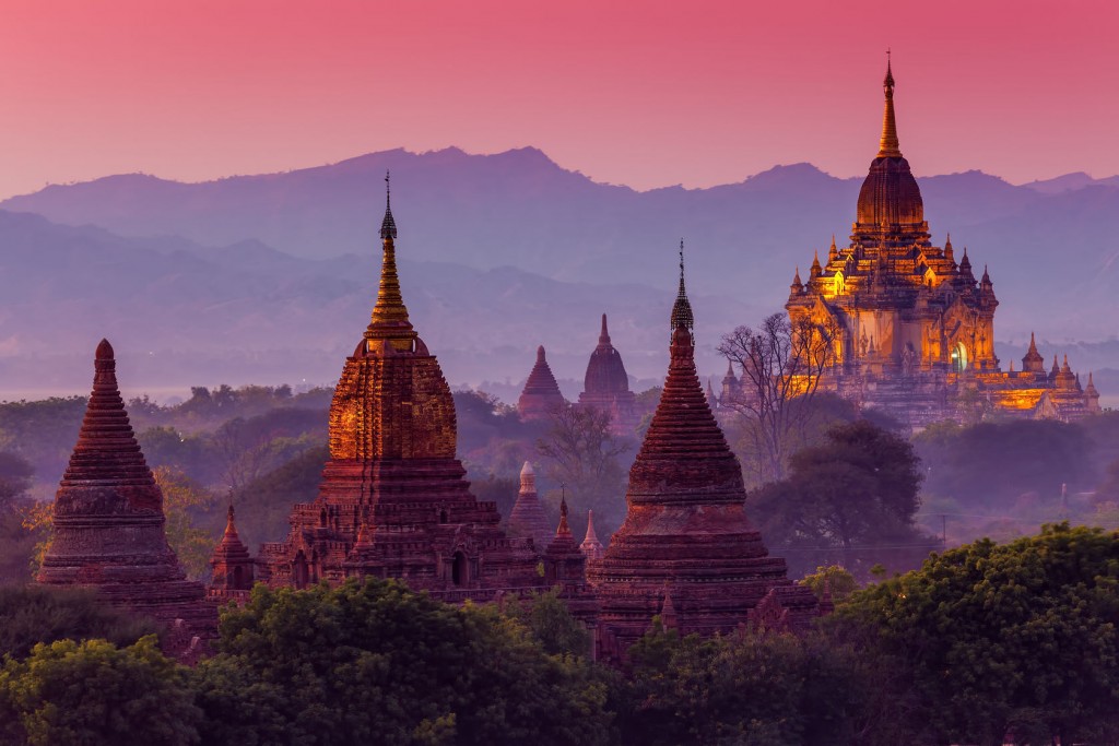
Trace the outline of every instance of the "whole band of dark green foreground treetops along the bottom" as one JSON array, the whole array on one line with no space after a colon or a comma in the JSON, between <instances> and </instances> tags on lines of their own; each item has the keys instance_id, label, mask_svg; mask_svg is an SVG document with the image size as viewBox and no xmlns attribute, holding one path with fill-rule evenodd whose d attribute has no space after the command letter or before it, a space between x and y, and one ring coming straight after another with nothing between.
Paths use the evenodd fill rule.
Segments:
<instances>
[{"instance_id":1,"label":"whole band of dark green foreground treetops along the bottom","mask_svg":"<svg viewBox=\"0 0 1119 746\"><path fill-rule=\"evenodd\" d=\"M803 636L681 638L655 620L620 670L589 659L554 594L448 606L394 580L258 587L224 611L214 655L187 669L87 595L8 591L0 738L1119 744L1117 566L1119 536L1062 525L934 555L849 595L829 570L814 583L837 611Z\"/></svg>"}]
</instances>

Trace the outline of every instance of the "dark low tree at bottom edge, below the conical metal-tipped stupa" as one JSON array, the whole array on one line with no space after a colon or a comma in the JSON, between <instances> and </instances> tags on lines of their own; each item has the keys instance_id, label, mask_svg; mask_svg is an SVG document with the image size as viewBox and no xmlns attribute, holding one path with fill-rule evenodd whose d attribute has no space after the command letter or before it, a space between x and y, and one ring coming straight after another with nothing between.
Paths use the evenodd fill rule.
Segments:
<instances>
[{"instance_id":1,"label":"dark low tree at bottom edge, below the conical metal-tipped stupa","mask_svg":"<svg viewBox=\"0 0 1119 746\"><path fill-rule=\"evenodd\" d=\"M867 682L856 651L809 634L680 638L659 623L630 651L622 743L650 746L855 743Z\"/></svg>"}]
</instances>

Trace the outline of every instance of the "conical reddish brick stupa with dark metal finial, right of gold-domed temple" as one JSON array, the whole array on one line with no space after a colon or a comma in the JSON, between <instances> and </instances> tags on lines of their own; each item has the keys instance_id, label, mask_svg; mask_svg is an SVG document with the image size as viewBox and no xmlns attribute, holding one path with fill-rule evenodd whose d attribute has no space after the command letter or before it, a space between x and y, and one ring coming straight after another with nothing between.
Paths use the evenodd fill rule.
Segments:
<instances>
[{"instance_id":1,"label":"conical reddish brick stupa with dark metal finial, right of gold-domed temple","mask_svg":"<svg viewBox=\"0 0 1119 746\"><path fill-rule=\"evenodd\" d=\"M818 613L746 517L742 470L696 375L693 327L681 245L660 404L630 469L626 521L587 565L608 659L623 658L657 615L683 634L714 634L747 623L803 630Z\"/></svg>"}]
</instances>

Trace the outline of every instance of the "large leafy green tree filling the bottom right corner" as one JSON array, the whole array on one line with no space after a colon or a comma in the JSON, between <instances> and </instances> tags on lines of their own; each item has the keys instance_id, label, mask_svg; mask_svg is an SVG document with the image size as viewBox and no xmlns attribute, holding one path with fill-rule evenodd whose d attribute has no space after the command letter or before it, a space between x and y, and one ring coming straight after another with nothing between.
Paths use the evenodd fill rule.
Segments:
<instances>
[{"instance_id":1,"label":"large leafy green tree filling the bottom right corner","mask_svg":"<svg viewBox=\"0 0 1119 746\"><path fill-rule=\"evenodd\" d=\"M1119 535L1059 525L933 555L857 592L835 614L837 635L873 641L867 653L909 691L892 739L866 743L1119 742L1117 568Z\"/></svg>"}]
</instances>

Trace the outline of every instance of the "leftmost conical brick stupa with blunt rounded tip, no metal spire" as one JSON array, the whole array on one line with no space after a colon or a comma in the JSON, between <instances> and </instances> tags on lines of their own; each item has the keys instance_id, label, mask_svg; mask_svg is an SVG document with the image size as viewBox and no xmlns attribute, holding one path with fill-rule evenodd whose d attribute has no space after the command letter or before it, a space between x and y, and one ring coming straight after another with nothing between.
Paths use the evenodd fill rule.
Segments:
<instances>
[{"instance_id":1,"label":"leftmost conical brick stupa with blunt rounded tip, no metal spire","mask_svg":"<svg viewBox=\"0 0 1119 746\"><path fill-rule=\"evenodd\" d=\"M36 582L96 588L113 605L172 627L179 648L214 638L217 607L200 583L186 579L167 542L163 495L129 423L107 340L97 346L94 371Z\"/></svg>"}]
</instances>

